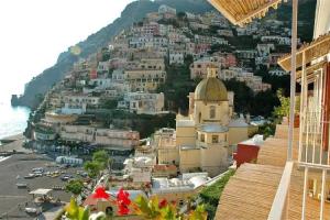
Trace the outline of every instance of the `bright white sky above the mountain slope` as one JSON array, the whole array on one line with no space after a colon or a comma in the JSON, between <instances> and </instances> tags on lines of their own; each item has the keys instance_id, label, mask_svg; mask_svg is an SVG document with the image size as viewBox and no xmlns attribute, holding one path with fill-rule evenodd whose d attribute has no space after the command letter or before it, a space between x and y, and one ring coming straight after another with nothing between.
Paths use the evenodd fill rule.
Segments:
<instances>
[{"instance_id":1,"label":"bright white sky above the mountain slope","mask_svg":"<svg viewBox=\"0 0 330 220\"><path fill-rule=\"evenodd\" d=\"M120 16L133 0L1 0L0 103L56 63L59 53Z\"/></svg>"}]
</instances>

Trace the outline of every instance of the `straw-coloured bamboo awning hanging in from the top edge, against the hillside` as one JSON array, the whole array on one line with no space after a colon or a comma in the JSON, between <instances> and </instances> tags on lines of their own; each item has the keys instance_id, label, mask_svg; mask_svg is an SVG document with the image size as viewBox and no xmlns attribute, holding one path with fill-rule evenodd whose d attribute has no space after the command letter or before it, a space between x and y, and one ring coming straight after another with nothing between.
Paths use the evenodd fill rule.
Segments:
<instances>
[{"instance_id":1,"label":"straw-coloured bamboo awning hanging in from the top edge, against the hillside","mask_svg":"<svg viewBox=\"0 0 330 220\"><path fill-rule=\"evenodd\" d=\"M252 19L263 18L270 8L277 9L282 0L208 0L231 23L243 26Z\"/></svg>"}]
</instances>

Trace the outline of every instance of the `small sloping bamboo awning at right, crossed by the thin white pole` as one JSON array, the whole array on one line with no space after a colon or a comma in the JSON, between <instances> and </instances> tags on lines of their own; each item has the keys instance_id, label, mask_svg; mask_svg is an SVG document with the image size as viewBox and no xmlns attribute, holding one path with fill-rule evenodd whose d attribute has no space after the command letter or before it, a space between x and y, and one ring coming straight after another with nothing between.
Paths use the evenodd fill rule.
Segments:
<instances>
[{"instance_id":1,"label":"small sloping bamboo awning at right, crossed by the thin white pole","mask_svg":"<svg viewBox=\"0 0 330 220\"><path fill-rule=\"evenodd\" d=\"M305 53L305 64L309 64L312 61L323 57L330 53L330 33L320 36L312 41L310 44L302 45L297 51L297 68L302 66L302 54ZM292 55L285 55L278 59L278 65L286 72L292 69Z\"/></svg>"}]
</instances>

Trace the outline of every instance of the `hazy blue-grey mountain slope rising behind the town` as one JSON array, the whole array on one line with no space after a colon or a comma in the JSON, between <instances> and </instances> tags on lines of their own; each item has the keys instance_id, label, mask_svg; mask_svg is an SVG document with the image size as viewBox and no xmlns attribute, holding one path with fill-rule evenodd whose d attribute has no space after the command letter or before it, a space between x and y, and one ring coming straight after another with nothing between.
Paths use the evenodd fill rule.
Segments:
<instances>
[{"instance_id":1,"label":"hazy blue-grey mountain slope rising behind the town","mask_svg":"<svg viewBox=\"0 0 330 220\"><path fill-rule=\"evenodd\" d=\"M77 44L81 48L79 57L86 58L88 55L96 53L98 48L106 46L107 43L120 31L129 28L133 22L142 20L146 13L157 11L161 4L170 6L176 8L177 11L194 13L204 13L212 9L205 0L134 1L127 6L127 8L122 11L121 16L113 23L105 26L97 33L91 34L85 41ZM15 97L12 99L12 105L35 108L40 102L37 97L40 97L40 95L44 95L54 84L63 79L65 74L79 57L73 55L69 51L59 54L57 63L28 82L24 94L19 98Z\"/></svg>"}]
</instances>

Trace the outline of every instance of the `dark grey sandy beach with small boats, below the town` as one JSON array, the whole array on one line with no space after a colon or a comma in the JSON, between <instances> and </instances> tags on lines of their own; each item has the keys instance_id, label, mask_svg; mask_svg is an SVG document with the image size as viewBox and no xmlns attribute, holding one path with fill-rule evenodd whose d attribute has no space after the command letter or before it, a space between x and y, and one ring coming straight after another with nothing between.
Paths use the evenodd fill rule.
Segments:
<instances>
[{"instance_id":1,"label":"dark grey sandy beach with small boats, below the town","mask_svg":"<svg viewBox=\"0 0 330 220\"><path fill-rule=\"evenodd\" d=\"M19 204L24 207L28 201L32 205L32 196L28 189L18 189L16 183L28 183L31 190L37 188L53 188L53 186L64 186L59 177L36 177L33 179L24 179L23 177L31 173L34 167L44 167L46 170L56 170L56 167L47 167L51 164L47 156L36 154L14 154L9 158L0 162L0 218L2 219L35 219L28 216L24 210L20 210ZM68 174L75 173L79 168L66 169ZM19 177L19 178L18 178ZM59 198L61 201L69 201L70 195L62 190L53 190L52 196ZM42 218L41 218L42 219Z\"/></svg>"}]
</instances>

